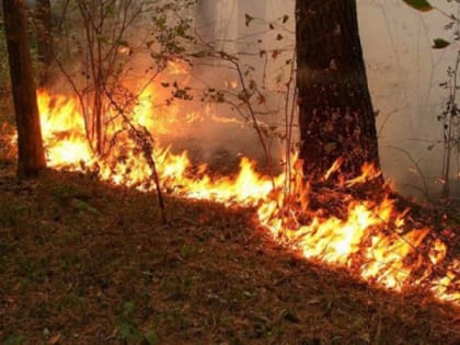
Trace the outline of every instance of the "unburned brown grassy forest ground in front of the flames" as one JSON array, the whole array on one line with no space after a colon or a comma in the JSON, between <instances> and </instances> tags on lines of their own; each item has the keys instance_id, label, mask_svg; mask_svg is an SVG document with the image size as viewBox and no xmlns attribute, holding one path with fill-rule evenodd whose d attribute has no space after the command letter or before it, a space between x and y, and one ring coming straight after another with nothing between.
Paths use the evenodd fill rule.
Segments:
<instances>
[{"instance_id":1,"label":"unburned brown grassy forest ground in front of the flames","mask_svg":"<svg viewBox=\"0 0 460 345\"><path fill-rule=\"evenodd\" d=\"M458 344L459 310L274 243L250 209L0 163L3 344Z\"/></svg>"}]
</instances>

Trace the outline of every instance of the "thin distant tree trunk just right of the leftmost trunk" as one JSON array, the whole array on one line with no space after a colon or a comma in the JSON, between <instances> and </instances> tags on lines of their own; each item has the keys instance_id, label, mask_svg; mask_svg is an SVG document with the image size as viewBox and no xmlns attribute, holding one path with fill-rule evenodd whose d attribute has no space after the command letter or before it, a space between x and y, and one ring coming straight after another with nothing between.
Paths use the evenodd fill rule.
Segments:
<instances>
[{"instance_id":1,"label":"thin distant tree trunk just right of the leftmost trunk","mask_svg":"<svg viewBox=\"0 0 460 345\"><path fill-rule=\"evenodd\" d=\"M44 87L49 81L49 67L54 59L53 53L53 19L50 0L37 0L35 22L37 27L37 53L43 62L39 85Z\"/></svg>"}]
</instances>

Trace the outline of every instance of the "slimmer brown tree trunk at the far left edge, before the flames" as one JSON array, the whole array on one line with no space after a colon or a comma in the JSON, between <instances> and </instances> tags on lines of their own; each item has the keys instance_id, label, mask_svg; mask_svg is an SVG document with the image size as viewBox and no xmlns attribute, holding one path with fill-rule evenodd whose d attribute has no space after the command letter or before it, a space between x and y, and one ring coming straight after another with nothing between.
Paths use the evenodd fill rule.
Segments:
<instances>
[{"instance_id":1,"label":"slimmer brown tree trunk at the far left edge, before the flames","mask_svg":"<svg viewBox=\"0 0 460 345\"><path fill-rule=\"evenodd\" d=\"M23 0L3 0L4 28L18 127L18 176L34 177L46 168L35 94L31 51L27 46L26 8Z\"/></svg>"}]
</instances>

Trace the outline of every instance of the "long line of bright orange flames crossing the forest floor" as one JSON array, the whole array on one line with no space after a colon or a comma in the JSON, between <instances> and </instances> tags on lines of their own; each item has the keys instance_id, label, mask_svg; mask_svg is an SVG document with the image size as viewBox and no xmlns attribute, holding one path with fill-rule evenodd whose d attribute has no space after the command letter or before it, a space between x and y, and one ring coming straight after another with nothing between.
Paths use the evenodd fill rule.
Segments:
<instances>
[{"instance_id":1,"label":"long line of bright orange flames crossing the forest floor","mask_svg":"<svg viewBox=\"0 0 460 345\"><path fill-rule=\"evenodd\" d=\"M181 66L172 64L170 68L179 70ZM149 129L153 138L172 130L177 122L200 118L199 114L181 114L173 108L170 117L162 119L152 106L154 94L152 88L147 88L131 110L133 123ZM38 106L50 166L96 169L102 180L113 184L153 189L149 164L129 136L119 137L104 158L97 157L88 142L77 99L41 91ZM272 179L257 173L255 163L246 158L241 160L237 175L212 176L205 164L194 168L187 152L173 154L159 142L154 145L153 159L161 186L168 193L254 207L258 223L306 258L346 267L355 276L383 288L424 288L438 299L460 302L456 274L459 261L449 261L447 245L439 239L433 240L430 229L406 229L405 214L398 212L388 197L376 202L340 196L341 204L347 207L338 215L330 215L323 208L310 207L312 192L301 182L298 162L290 166L289 177L283 173ZM325 180L340 164L337 161L331 168ZM379 174L366 165L360 176L344 185L360 184ZM445 274L439 273L438 266L445 267Z\"/></svg>"}]
</instances>

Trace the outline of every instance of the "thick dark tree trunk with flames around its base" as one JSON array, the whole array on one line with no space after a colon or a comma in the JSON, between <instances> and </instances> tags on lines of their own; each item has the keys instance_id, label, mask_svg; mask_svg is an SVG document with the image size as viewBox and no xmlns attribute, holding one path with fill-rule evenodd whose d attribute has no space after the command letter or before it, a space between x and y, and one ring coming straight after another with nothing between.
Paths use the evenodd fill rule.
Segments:
<instances>
[{"instance_id":1,"label":"thick dark tree trunk with flames around its base","mask_svg":"<svg viewBox=\"0 0 460 345\"><path fill-rule=\"evenodd\" d=\"M356 0L297 0L300 158L320 180L338 158L341 172L379 166L376 122L359 41Z\"/></svg>"}]
</instances>

